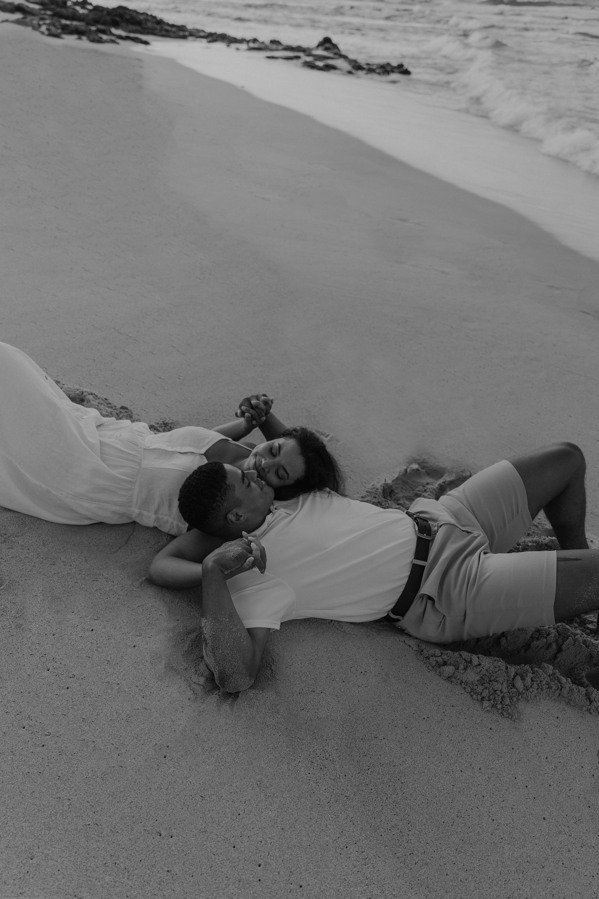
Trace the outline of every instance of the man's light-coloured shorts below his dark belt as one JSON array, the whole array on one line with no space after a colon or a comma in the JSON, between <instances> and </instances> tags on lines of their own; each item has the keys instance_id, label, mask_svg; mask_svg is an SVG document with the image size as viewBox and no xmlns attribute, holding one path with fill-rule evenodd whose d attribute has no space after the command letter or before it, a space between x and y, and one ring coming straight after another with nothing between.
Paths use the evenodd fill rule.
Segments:
<instances>
[{"instance_id":1,"label":"man's light-coloured shorts below his dark belt","mask_svg":"<svg viewBox=\"0 0 599 899\"><path fill-rule=\"evenodd\" d=\"M436 527L420 593L400 627L431 643L555 624L555 552L507 553L532 524L504 460L449 494L410 506ZM435 528L434 528L435 530Z\"/></svg>"}]
</instances>

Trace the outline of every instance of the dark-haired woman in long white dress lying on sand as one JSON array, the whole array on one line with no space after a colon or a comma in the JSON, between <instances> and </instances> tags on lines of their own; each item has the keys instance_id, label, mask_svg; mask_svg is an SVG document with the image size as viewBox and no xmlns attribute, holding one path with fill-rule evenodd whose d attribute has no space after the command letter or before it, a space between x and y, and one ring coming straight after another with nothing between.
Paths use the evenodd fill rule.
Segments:
<instances>
[{"instance_id":1,"label":"dark-haired woman in long white dress lying on sand","mask_svg":"<svg viewBox=\"0 0 599 899\"><path fill-rule=\"evenodd\" d=\"M253 473L277 499L341 488L339 467L307 428L286 429L265 394L242 400L234 422L154 433L72 403L21 350L0 343L0 505L62 524L138 521L187 530L177 506L187 476L207 462ZM259 426L266 442L243 439Z\"/></svg>"}]
</instances>

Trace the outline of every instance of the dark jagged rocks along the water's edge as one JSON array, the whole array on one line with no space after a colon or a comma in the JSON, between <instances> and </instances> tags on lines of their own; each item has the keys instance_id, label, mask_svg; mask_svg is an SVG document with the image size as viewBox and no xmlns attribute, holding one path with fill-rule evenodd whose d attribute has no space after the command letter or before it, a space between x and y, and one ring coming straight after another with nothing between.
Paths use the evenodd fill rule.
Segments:
<instances>
[{"instance_id":1,"label":"dark jagged rocks along the water's edge","mask_svg":"<svg viewBox=\"0 0 599 899\"><path fill-rule=\"evenodd\" d=\"M223 43L227 46L245 46L251 52L263 53L267 59L297 61L302 66L319 72L337 71L346 75L395 76L410 75L403 63L360 62L342 53L329 37L322 38L315 48L283 44L280 40L236 38L224 31L204 31L165 22L151 13L138 12L128 6L97 6L88 0L35 0L28 4L0 0L0 13L18 14L12 21L40 31L51 38L75 35L92 43L118 43L133 40L148 44L140 35L179 40L206 40L207 43Z\"/></svg>"}]
</instances>

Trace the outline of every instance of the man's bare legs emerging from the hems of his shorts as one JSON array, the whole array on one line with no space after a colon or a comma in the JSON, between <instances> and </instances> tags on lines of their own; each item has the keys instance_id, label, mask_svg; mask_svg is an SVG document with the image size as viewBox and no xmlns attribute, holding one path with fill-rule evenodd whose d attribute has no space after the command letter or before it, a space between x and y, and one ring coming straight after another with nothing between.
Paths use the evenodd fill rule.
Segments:
<instances>
[{"instance_id":1,"label":"man's bare legs emerging from the hems of his shorts","mask_svg":"<svg viewBox=\"0 0 599 899\"><path fill-rule=\"evenodd\" d=\"M599 608L599 551L585 535L586 463L574 443L554 443L509 460L526 489L528 510L545 512L558 539L558 572L553 611L567 621Z\"/></svg>"}]
</instances>

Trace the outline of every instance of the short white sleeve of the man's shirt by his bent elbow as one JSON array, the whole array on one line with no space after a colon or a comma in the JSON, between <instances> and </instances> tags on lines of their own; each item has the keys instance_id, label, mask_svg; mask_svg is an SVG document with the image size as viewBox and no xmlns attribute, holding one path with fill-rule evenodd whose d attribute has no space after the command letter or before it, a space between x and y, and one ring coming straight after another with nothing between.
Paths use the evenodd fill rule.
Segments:
<instances>
[{"instance_id":1,"label":"short white sleeve of the man's shirt by his bent elbow","mask_svg":"<svg viewBox=\"0 0 599 899\"><path fill-rule=\"evenodd\" d=\"M278 630L281 621L293 617L295 593L272 574L248 571L227 583L244 628Z\"/></svg>"}]
</instances>

